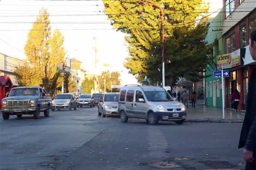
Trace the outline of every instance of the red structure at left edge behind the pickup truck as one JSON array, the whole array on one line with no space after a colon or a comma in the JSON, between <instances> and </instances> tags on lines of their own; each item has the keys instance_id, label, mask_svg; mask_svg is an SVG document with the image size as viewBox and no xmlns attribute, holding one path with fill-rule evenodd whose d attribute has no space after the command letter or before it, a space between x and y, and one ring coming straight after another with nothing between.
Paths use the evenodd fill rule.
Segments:
<instances>
[{"instance_id":1,"label":"red structure at left edge behind the pickup truck","mask_svg":"<svg viewBox=\"0 0 256 170\"><path fill-rule=\"evenodd\" d=\"M6 92L12 90L12 81L9 76L0 76L0 108L2 107L2 98L6 97Z\"/></svg>"}]
</instances>

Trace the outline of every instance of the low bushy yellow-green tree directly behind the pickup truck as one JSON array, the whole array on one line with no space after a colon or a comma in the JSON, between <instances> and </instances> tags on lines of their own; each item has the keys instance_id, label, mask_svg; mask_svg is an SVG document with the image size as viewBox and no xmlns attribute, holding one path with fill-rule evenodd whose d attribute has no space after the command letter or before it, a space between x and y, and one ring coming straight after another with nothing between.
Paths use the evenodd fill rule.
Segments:
<instances>
[{"instance_id":1,"label":"low bushy yellow-green tree directly behind the pickup truck","mask_svg":"<svg viewBox=\"0 0 256 170\"><path fill-rule=\"evenodd\" d=\"M15 79L21 86L42 85L43 74L37 66L30 67L28 63L14 69Z\"/></svg>"}]
</instances>

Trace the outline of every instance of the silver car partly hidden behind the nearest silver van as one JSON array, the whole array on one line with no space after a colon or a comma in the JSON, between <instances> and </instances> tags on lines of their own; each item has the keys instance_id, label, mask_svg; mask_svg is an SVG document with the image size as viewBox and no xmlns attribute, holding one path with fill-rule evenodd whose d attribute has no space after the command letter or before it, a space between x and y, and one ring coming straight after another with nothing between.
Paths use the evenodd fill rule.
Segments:
<instances>
[{"instance_id":1,"label":"silver car partly hidden behind the nearest silver van","mask_svg":"<svg viewBox=\"0 0 256 170\"><path fill-rule=\"evenodd\" d=\"M118 115L118 100L120 93L103 93L98 104L98 115L105 118L106 115Z\"/></svg>"}]
</instances>

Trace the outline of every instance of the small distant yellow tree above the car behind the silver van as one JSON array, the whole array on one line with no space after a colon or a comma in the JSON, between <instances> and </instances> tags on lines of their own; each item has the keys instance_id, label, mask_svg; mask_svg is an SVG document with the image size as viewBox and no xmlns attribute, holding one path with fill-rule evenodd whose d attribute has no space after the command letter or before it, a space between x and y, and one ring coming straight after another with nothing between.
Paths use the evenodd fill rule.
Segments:
<instances>
[{"instance_id":1,"label":"small distant yellow tree above the car behind the silver van","mask_svg":"<svg viewBox=\"0 0 256 170\"><path fill-rule=\"evenodd\" d=\"M105 88L105 79L106 79L106 92L111 91L112 85L120 85L121 79L119 72L111 72L109 70L101 72L101 76L98 77L97 81L99 83L99 87L102 91Z\"/></svg>"}]
</instances>

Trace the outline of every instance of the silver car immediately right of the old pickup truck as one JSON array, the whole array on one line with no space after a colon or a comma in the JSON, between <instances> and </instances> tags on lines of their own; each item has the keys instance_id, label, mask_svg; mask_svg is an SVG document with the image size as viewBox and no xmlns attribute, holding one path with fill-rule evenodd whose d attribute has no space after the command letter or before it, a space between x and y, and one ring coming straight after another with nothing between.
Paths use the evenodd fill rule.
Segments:
<instances>
[{"instance_id":1,"label":"silver car immediately right of the old pickup truck","mask_svg":"<svg viewBox=\"0 0 256 170\"><path fill-rule=\"evenodd\" d=\"M52 101L52 111L55 109L77 110L77 100L72 93L57 94Z\"/></svg>"}]
</instances>

